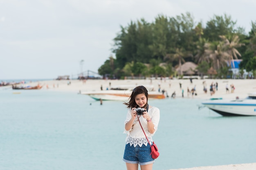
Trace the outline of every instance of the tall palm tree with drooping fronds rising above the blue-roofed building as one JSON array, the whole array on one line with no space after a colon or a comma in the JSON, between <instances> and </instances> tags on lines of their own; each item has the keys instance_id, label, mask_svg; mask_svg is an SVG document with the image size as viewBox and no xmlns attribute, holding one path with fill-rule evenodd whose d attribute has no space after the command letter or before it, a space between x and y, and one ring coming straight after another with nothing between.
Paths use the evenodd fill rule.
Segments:
<instances>
[{"instance_id":1,"label":"tall palm tree with drooping fronds rising above the blue-roofed building","mask_svg":"<svg viewBox=\"0 0 256 170\"><path fill-rule=\"evenodd\" d=\"M241 54L238 52L236 48L243 46L245 44L239 43L240 39L238 35L230 36L229 39L224 35L220 35L220 38L222 39L222 41L224 41L224 48L227 50L227 53L229 54L228 56L229 65L231 66L231 61L232 61L233 66L235 66L234 58L238 59L237 55L241 57Z\"/></svg>"}]
</instances>

